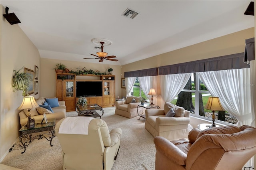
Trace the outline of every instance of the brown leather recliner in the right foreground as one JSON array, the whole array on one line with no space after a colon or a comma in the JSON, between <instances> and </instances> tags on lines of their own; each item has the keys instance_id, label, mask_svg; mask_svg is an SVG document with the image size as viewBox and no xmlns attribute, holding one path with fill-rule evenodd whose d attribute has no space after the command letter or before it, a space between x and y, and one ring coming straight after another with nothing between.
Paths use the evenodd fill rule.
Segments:
<instances>
[{"instance_id":1,"label":"brown leather recliner in the right foreground","mask_svg":"<svg viewBox=\"0 0 256 170\"><path fill-rule=\"evenodd\" d=\"M188 139L154 138L156 170L241 170L256 154L256 128L247 125L194 128Z\"/></svg>"}]
</instances>

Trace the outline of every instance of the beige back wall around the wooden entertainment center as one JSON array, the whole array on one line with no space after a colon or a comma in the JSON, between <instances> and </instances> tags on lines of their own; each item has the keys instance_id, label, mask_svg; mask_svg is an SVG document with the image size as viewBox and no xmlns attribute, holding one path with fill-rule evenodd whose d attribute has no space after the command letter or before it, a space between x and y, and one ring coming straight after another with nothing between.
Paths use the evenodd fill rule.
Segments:
<instances>
[{"instance_id":1,"label":"beige back wall around the wooden entertainment center","mask_svg":"<svg viewBox=\"0 0 256 170\"><path fill-rule=\"evenodd\" d=\"M82 63L77 61L66 61L66 60L57 60L57 59L47 59L41 58L41 97L56 97L56 73L54 67L57 63L62 63L66 65L68 69L73 69L77 71L76 68L80 69L86 67L87 70L96 69L100 72L106 71L106 69L112 68L112 74L115 75L116 82L116 96L121 96L121 66L120 65L108 65L108 64L98 64L98 63ZM77 79L96 79L97 77L77 77Z\"/></svg>"}]
</instances>

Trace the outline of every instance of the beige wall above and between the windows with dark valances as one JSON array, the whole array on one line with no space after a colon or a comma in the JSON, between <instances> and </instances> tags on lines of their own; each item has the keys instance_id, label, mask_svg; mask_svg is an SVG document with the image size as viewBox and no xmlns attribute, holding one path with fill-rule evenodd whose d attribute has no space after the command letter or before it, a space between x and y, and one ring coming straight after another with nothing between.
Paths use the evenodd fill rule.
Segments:
<instances>
[{"instance_id":1,"label":"beige wall above and between the windows with dark valances","mask_svg":"<svg viewBox=\"0 0 256 170\"><path fill-rule=\"evenodd\" d=\"M244 52L245 40L253 37L254 28L249 28L240 32L208 40L206 42L197 43L195 45L190 45L188 47L170 51L168 53L136 61L134 63L122 65L122 78L124 77L124 72L126 71L148 69L164 65L172 65L188 61L196 61L200 59L241 53ZM158 94L160 94L159 84L160 83L158 82ZM122 96L125 94L125 89L122 89ZM163 107L164 105L160 96L154 99L153 103L159 105L160 107Z\"/></svg>"}]
</instances>

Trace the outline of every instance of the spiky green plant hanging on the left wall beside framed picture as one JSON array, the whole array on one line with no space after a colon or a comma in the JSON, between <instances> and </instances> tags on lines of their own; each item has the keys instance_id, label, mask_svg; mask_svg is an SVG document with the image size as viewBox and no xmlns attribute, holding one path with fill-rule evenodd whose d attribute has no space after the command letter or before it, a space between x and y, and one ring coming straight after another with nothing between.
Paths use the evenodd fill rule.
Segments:
<instances>
[{"instance_id":1,"label":"spiky green plant hanging on the left wall beside framed picture","mask_svg":"<svg viewBox=\"0 0 256 170\"><path fill-rule=\"evenodd\" d=\"M12 88L13 91L22 90L22 96L26 96L26 90L28 89L29 85L29 75L27 73L21 72L19 69L18 71L14 70L14 76L12 77Z\"/></svg>"}]
</instances>

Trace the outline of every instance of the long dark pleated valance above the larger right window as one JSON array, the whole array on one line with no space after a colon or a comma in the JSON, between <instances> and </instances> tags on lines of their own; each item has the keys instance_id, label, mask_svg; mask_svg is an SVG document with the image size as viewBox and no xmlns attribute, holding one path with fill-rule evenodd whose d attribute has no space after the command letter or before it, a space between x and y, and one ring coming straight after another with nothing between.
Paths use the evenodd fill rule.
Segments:
<instances>
[{"instance_id":1,"label":"long dark pleated valance above the larger right window","mask_svg":"<svg viewBox=\"0 0 256 170\"><path fill-rule=\"evenodd\" d=\"M240 69L249 67L250 66L248 64L244 63L244 53L236 53L231 55L224 55L221 57L161 66L158 67L158 75L196 73L204 71Z\"/></svg>"}]
</instances>

